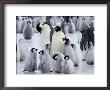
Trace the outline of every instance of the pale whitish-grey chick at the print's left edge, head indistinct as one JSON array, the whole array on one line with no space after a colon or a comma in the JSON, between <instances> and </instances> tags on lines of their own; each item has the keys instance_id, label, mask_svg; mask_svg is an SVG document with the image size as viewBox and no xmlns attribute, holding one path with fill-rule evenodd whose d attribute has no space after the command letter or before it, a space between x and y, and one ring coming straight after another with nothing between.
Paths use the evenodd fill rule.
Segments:
<instances>
[{"instance_id":1,"label":"pale whitish-grey chick at the print's left edge, head indistinct","mask_svg":"<svg viewBox=\"0 0 110 90\"><path fill-rule=\"evenodd\" d=\"M18 47L17 49L20 52L20 61L25 61L25 59L27 57L27 54L28 54L28 49L26 47L25 40L24 39L20 39L18 41L17 47Z\"/></svg>"}]
</instances>

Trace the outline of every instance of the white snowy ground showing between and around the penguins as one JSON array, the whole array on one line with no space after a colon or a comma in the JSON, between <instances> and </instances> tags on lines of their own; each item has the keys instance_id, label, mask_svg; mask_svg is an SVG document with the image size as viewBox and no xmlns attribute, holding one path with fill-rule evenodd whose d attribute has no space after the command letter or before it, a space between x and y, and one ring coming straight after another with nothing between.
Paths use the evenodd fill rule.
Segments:
<instances>
[{"instance_id":1,"label":"white snowy ground showing between and around the penguins","mask_svg":"<svg viewBox=\"0 0 110 90\"><path fill-rule=\"evenodd\" d=\"M77 39L81 38L81 36L79 34L80 34L79 32L76 32L74 35L68 35L67 37L69 37L71 39L71 42L73 43L73 42L77 42L78 41ZM76 39L73 39L73 37ZM23 34L17 33L17 42L21 38L23 39ZM26 45L28 47L28 50L32 47L35 47L35 48L41 50L39 42L40 42L39 33L34 33L32 40L26 40ZM39 58L38 58L37 63L39 64ZM17 62L16 65L17 65L17 67L16 67L17 74L41 74L41 72L38 70L36 70L35 72L23 72L24 61ZM75 67L74 74L94 74L94 65L87 65L86 61L80 61L80 66Z\"/></svg>"}]
</instances>

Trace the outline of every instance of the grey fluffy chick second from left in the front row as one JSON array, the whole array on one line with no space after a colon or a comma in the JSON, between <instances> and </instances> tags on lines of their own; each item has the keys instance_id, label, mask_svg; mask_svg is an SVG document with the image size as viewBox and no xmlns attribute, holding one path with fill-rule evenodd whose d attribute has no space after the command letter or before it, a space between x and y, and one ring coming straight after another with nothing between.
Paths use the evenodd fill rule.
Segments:
<instances>
[{"instance_id":1,"label":"grey fluffy chick second from left in the front row","mask_svg":"<svg viewBox=\"0 0 110 90\"><path fill-rule=\"evenodd\" d=\"M51 56L45 50L41 50L39 54L40 63L38 69L41 70L42 73L53 72L53 59Z\"/></svg>"}]
</instances>

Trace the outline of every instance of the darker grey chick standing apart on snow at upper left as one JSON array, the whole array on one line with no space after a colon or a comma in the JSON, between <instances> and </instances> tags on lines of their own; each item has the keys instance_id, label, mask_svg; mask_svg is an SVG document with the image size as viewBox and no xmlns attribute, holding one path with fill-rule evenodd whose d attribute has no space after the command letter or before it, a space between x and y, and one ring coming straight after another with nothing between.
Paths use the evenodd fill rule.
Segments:
<instances>
[{"instance_id":1,"label":"darker grey chick standing apart on snow at upper left","mask_svg":"<svg viewBox=\"0 0 110 90\"><path fill-rule=\"evenodd\" d=\"M31 39L33 36L32 25L30 21L27 21L27 25L23 31L24 39Z\"/></svg>"}]
</instances>

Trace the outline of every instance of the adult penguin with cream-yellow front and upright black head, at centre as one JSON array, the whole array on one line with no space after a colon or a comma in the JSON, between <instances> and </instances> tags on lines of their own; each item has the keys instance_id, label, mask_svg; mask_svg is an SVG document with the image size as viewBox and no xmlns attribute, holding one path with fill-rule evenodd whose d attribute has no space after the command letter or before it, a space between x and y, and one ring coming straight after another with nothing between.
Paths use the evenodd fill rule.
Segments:
<instances>
[{"instance_id":1,"label":"adult penguin with cream-yellow front and upright black head, at centre","mask_svg":"<svg viewBox=\"0 0 110 90\"><path fill-rule=\"evenodd\" d=\"M51 53L53 54L54 52L60 52L63 53L64 49L64 42L63 39L65 35L62 32L61 27L56 26L55 31L52 35L52 43L51 43Z\"/></svg>"}]
</instances>

